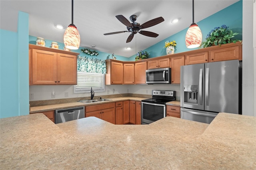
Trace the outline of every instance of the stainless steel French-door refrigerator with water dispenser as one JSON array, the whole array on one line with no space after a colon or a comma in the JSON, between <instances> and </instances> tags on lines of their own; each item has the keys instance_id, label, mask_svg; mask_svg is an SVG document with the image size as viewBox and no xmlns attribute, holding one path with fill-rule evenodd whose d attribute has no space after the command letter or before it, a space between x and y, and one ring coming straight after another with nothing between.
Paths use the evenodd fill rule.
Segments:
<instances>
[{"instance_id":1,"label":"stainless steel French-door refrigerator with water dispenser","mask_svg":"<svg viewBox=\"0 0 256 170\"><path fill-rule=\"evenodd\" d=\"M180 67L180 117L211 123L219 112L242 114L238 60Z\"/></svg>"}]
</instances>

